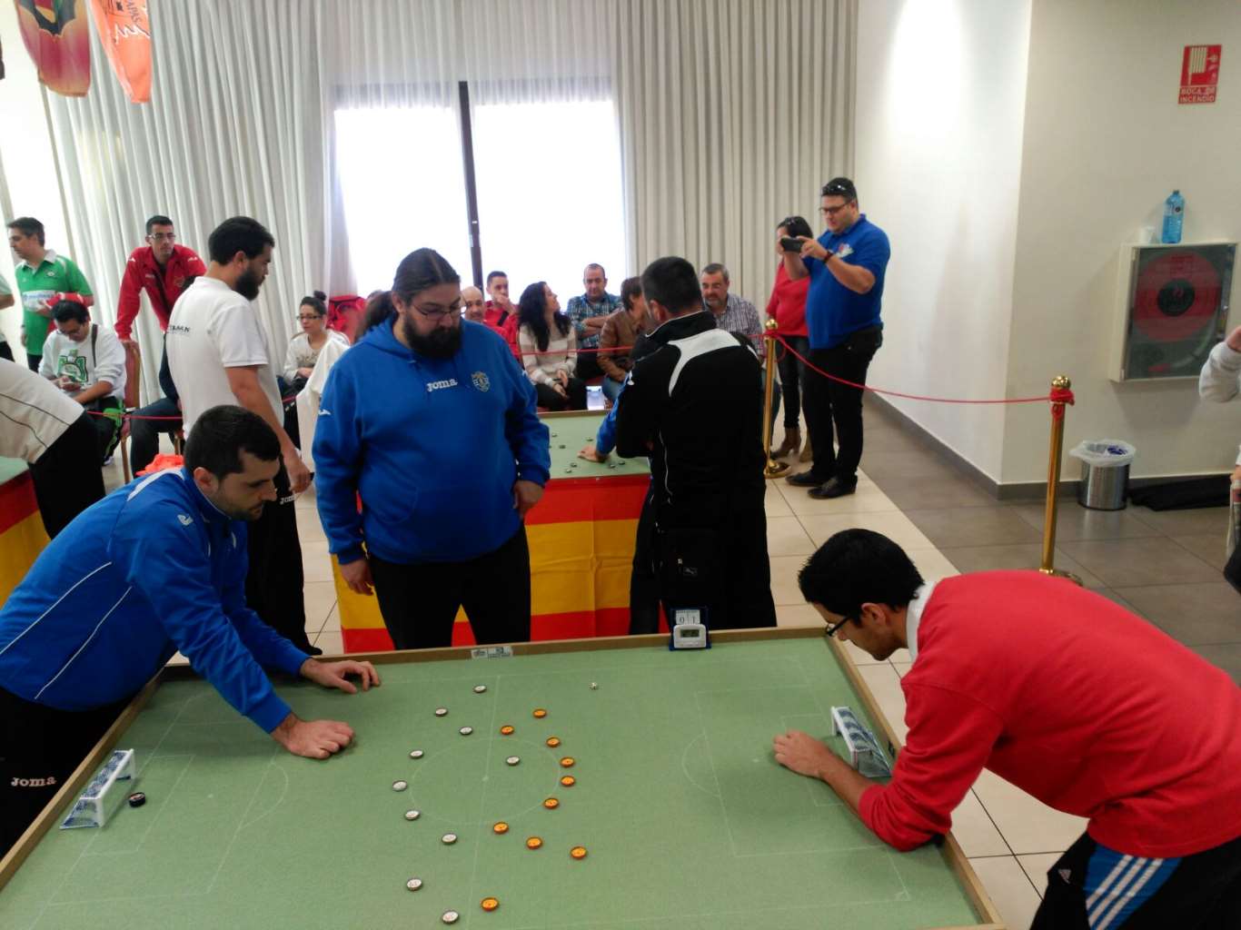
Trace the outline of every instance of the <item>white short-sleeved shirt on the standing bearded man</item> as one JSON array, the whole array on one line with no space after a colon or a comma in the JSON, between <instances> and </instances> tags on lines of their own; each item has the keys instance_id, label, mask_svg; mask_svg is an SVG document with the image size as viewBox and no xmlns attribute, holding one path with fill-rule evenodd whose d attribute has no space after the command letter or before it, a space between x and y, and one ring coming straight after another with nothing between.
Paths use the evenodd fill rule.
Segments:
<instances>
[{"instance_id":1,"label":"white short-sleeved shirt on the standing bearded man","mask_svg":"<svg viewBox=\"0 0 1241 930\"><path fill-rule=\"evenodd\" d=\"M271 341L251 303L223 281L202 277L181 294L165 345L186 433L204 410L237 403L225 370L252 365L258 366L258 383L277 422L283 420Z\"/></svg>"}]
</instances>

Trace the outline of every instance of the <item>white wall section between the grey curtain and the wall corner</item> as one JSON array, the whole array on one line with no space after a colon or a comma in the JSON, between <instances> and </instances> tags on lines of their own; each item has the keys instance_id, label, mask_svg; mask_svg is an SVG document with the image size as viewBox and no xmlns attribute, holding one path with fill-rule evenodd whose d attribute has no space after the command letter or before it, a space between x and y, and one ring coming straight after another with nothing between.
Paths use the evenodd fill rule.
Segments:
<instances>
[{"instance_id":1,"label":"white wall section between the grey curtain and the wall corner","mask_svg":"<svg viewBox=\"0 0 1241 930\"><path fill-rule=\"evenodd\" d=\"M855 180L892 244L876 387L1008 396L1029 29L1029 0L859 5ZM1001 408L892 403L999 480ZM1008 419L1046 422L1044 405Z\"/></svg>"}]
</instances>

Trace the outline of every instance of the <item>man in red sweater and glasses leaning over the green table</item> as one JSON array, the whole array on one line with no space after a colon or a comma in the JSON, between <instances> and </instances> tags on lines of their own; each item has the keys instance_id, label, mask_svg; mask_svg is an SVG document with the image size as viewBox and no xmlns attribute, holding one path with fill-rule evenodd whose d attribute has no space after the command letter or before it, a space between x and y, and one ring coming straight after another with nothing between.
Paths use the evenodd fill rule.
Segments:
<instances>
[{"instance_id":1,"label":"man in red sweater and glasses leaning over the green table","mask_svg":"<svg viewBox=\"0 0 1241 930\"><path fill-rule=\"evenodd\" d=\"M1241 926L1241 689L1225 672L1066 579L925 584L866 529L828 539L798 583L829 636L880 660L910 650L908 737L886 785L800 732L776 738L777 761L897 849L946 833L984 768L1088 817L1035 930Z\"/></svg>"}]
</instances>

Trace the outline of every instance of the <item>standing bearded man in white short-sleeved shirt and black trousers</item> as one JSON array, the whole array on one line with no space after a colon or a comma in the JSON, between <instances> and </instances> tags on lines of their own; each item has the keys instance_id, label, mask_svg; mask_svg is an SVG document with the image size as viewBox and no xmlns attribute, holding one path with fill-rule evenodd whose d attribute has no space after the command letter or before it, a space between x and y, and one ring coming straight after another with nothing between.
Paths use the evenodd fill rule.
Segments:
<instances>
[{"instance_id":1,"label":"standing bearded man in white short-sleeved shirt and black trousers","mask_svg":"<svg viewBox=\"0 0 1241 930\"><path fill-rule=\"evenodd\" d=\"M307 489L310 472L284 432L276 383L280 356L251 304L267 278L274 246L257 219L238 216L217 226L207 239L211 267L176 301L164 345L186 432L204 410L240 404L262 417L279 439L278 494L249 531L246 603L287 640L319 655L305 634L302 544L293 512L293 495Z\"/></svg>"}]
</instances>

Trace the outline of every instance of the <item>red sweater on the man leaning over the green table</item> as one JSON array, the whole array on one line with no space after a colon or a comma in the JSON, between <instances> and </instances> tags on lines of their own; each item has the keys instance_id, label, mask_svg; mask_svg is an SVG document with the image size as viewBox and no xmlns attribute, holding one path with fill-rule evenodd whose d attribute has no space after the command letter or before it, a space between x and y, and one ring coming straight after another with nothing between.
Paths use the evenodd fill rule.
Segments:
<instances>
[{"instance_id":1,"label":"red sweater on the man leaning over the green table","mask_svg":"<svg viewBox=\"0 0 1241 930\"><path fill-rule=\"evenodd\" d=\"M862 821L911 849L947 832L990 769L1122 853L1189 856L1241 836L1241 688L1153 624L1072 582L939 582L901 681L908 737Z\"/></svg>"}]
</instances>

